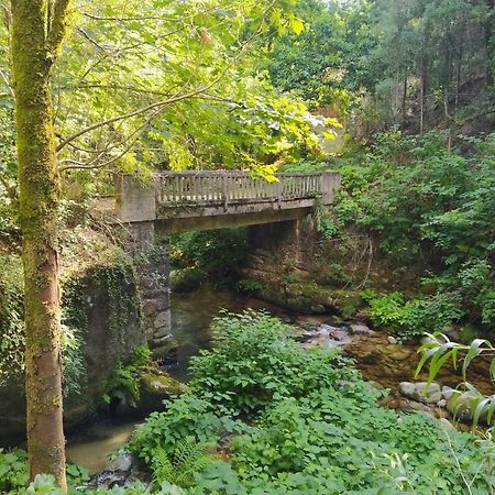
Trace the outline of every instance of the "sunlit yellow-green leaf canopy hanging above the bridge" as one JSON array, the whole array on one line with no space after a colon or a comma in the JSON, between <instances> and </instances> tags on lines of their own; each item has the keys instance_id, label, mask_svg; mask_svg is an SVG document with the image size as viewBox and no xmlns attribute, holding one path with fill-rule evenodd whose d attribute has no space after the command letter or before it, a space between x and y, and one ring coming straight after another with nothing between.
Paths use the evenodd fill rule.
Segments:
<instances>
[{"instance_id":1,"label":"sunlit yellow-green leaf canopy hanging above the bridge","mask_svg":"<svg viewBox=\"0 0 495 495\"><path fill-rule=\"evenodd\" d=\"M74 1L54 74L58 161L72 193L105 190L116 168L266 174L275 157L314 146L322 120L254 68L274 35L300 33L294 3ZM12 105L8 61L0 107Z\"/></svg>"}]
</instances>

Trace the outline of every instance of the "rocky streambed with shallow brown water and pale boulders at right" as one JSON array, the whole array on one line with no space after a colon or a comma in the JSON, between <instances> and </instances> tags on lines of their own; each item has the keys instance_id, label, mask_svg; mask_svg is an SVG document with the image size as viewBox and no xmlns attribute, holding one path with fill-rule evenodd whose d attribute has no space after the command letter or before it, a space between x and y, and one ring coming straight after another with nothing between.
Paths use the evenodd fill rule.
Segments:
<instances>
[{"instance_id":1,"label":"rocky streambed with shallow brown water and pale boulders at right","mask_svg":"<svg viewBox=\"0 0 495 495\"><path fill-rule=\"evenodd\" d=\"M365 380L388 388L389 395L382 402L383 406L404 411L419 410L451 420L455 416L457 420L466 424L471 421L474 394L455 392L462 382L459 369L446 363L430 384L427 371L415 376L420 342L399 343L393 336L372 330L362 322L333 324L331 319L321 317L299 317L296 322L299 324L298 339L305 348L340 348L354 360ZM471 384L479 391L493 393L487 360L473 361L469 373ZM458 394L455 403L451 402L454 394ZM469 428L462 422L458 427Z\"/></svg>"}]
</instances>

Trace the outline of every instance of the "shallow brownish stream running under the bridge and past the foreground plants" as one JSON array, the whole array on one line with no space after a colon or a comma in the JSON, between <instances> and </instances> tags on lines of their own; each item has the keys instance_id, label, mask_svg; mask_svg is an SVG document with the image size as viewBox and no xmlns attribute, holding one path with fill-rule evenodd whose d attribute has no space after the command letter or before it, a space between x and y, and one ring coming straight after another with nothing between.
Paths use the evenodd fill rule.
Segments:
<instances>
[{"instance_id":1,"label":"shallow brownish stream running under the bridge and past the foreground plants","mask_svg":"<svg viewBox=\"0 0 495 495\"><path fill-rule=\"evenodd\" d=\"M213 288L204 284L199 289L172 296L172 333L178 343L177 362L166 370L176 380L186 382L188 364L199 350L211 345L211 320L222 309L239 312L246 308L266 309L284 321L299 328L299 340L306 348L339 346L346 355L355 360L355 366L363 377L377 386L389 388L388 407L398 408L397 388L400 382L414 381L418 363L418 343L399 344L382 331L373 331L360 322L337 323L327 315L301 316L287 311L266 301L246 297L233 290ZM492 384L482 364L473 367L473 383L482 392L491 391ZM426 380L426 376L420 376ZM460 382L459 373L441 370L437 382L455 386ZM394 405L394 400L397 405ZM72 437L67 444L67 459L96 473L108 468L108 455L125 443L135 427L144 417L131 419L102 419Z\"/></svg>"}]
</instances>

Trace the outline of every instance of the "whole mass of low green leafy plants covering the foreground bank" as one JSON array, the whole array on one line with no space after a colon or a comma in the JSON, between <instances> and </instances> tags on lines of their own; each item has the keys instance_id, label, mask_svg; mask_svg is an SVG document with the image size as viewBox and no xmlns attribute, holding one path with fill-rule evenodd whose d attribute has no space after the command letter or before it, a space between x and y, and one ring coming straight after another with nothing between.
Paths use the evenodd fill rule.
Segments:
<instances>
[{"instance_id":1,"label":"whole mass of low green leafy plants covering the foreground bank","mask_svg":"<svg viewBox=\"0 0 495 495\"><path fill-rule=\"evenodd\" d=\"M278 320L228 315L215 322L215 342L193 365L190 392L153 414L130 444L153 470L157 452L173 455L185 439L217 443L230 463L209 462L184 493L463 494L468 482L481 494L493 486L491 461L468 435L380 408L382 393L348 362L302 350Z\"/></svg>"}]
</instances>

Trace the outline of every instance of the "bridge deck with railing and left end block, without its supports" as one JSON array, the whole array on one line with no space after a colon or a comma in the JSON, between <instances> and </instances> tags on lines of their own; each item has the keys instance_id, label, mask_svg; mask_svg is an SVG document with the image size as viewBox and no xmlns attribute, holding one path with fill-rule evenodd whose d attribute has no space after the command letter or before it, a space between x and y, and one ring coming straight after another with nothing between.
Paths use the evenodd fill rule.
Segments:
<instances>
[{"instance_id":1,"label":"bridge deck with railing and left end block, without its supports","mask_svg":"<svg viewBox=\"0 0 495 495\"><path fill-rule=\"evenodd\" d=\"M319 200L330 205L338 173L275 174L272 182L246 172L165 172L145 185L131 175L118 182L121 222L154 222L163 233L296 220Z\"/></svg>"}]
</instances>

